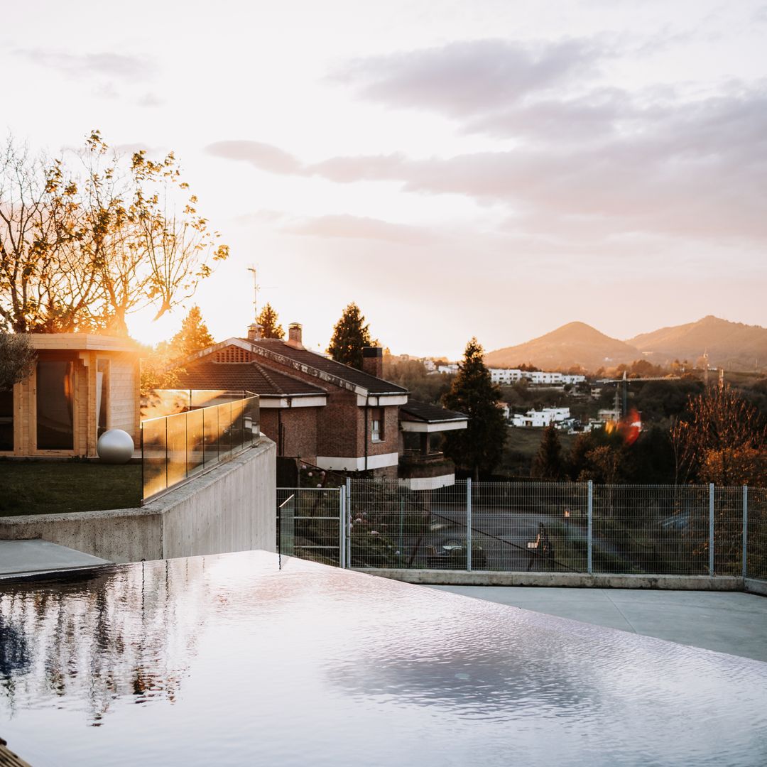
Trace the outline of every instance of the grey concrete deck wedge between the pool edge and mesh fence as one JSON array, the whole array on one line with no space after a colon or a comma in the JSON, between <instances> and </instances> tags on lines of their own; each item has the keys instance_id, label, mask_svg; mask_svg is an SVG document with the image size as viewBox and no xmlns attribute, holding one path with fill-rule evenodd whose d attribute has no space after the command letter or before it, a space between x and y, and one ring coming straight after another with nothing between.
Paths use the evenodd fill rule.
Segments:
<instances>
[{"instance_id":1,"label":"grey concrete deck wedge between the pool edge and mesh fence","mask_svg":"<svg viewBox=\"0 0 767 767\"><path fill-rule=\"evenodd\" d=\"M755 594L530 586L428 588L767 662L767 599Z\"/></svg>"}]
</instances>

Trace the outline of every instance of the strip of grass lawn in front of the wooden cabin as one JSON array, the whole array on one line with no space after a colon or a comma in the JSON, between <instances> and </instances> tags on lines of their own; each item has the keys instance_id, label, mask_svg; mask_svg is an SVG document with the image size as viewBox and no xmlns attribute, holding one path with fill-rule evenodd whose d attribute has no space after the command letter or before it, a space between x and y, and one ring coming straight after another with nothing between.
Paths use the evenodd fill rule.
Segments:
<instances>
[{"instance_id":1,"label":"strip of grass lawn in front of the wooden cabin","mask_svg":"<svg viewBox=\"0 0 767 767\"><path fill-rule=\"evenodd\" d=\"M140 463L0 460L0 516L129 509L140 502Z\"/></svg>"}]
</instances>

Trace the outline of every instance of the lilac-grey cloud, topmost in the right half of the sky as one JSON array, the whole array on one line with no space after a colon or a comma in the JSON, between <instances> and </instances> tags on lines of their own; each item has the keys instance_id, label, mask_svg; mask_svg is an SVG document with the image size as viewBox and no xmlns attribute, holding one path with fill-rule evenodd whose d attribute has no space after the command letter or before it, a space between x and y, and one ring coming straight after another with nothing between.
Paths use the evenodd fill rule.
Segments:
<instances>
[{"instance_id":1,"label":"lilac-grey cloud, topmost in the right half of the sky","mask_svg":"<svg viewBox=\"0 0 767 767\"><path fill-rule=\"evenodd\" d=\"M333 78L351 84L361 98L387 106L467 117L594 74L607 55L604 47L587 40L459 41L357 59Z\"/></svg>"}]
</instances>

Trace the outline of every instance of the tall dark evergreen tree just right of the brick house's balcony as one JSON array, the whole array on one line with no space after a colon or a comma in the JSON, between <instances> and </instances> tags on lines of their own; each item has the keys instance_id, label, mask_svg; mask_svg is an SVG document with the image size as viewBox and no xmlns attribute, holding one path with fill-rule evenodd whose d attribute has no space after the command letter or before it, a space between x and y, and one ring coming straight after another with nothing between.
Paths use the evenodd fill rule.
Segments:
<instances>
[{"instance_id":1,"label":"tall dark evergreen tree just right of the brick house's balcony","mask_svg":"<svg viewBox=\"0 0 767 767\"><path fill-rule=\"evenodd\" d=\"M498 407L501 390L490 380L483 354L479 341L472 338L453 385L443 397L445 407L469 416L465 430L446 432L445 455L456 466L473 472L475 479L480 470L491 472L498 465L506 440L506 424Z\"/></svg>"}]
</instances>

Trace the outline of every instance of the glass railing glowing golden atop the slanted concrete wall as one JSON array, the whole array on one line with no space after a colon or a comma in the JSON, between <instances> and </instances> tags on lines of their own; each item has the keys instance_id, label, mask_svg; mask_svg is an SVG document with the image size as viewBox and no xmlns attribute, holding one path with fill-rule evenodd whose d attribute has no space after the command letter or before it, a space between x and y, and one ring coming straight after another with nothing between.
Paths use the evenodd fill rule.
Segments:
<instances>
[{"instance_id":1,"label":"glass railing glowing golden atop the slanted concrete wall","mask_svg":"<svg viewBox=\"0 0 767 767\"><path fill-rule=\"evenodd\" d=\"M258 396L141 422L143 501L192 479L258 439Z\"/></svg>"}]
</instances>

